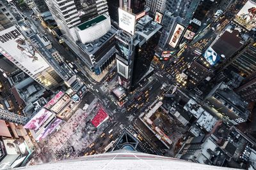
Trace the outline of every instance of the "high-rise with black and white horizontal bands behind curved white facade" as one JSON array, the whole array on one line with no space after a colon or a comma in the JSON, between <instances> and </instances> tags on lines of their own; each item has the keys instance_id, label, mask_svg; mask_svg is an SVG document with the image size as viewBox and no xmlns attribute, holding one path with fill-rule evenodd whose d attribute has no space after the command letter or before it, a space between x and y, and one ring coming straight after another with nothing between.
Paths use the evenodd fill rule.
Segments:
<instances>
[{"instance_id":1,"label":"high-rise with black and white horizontal bands behind curved white facade","mask_svg":"<svg viewBox=\"0 0 256 170\"><path fill-rule=\"evenodd\" d=\"M61 31L75 41L78 38L74 27L97 17L97 15L108 14L106 0L74 0L68 3L66 1L45 0L45 2Z\"/></svg>"}]
</instances>

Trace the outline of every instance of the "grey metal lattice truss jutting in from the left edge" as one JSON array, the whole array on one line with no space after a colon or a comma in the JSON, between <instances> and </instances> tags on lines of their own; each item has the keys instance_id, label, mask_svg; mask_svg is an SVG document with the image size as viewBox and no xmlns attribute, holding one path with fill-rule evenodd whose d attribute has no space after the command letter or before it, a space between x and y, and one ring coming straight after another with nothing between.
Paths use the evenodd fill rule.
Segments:
<instances>
[{"instance_id":1,"label":"grey metal lattice truss jutting in from the left edge","mask_svg":"<svg viewBox=\"0 0 256 170\"><path fill-rule=\"evenodd\" d=\"M11 111L2 110L0 108L0 119L5 120L7 122L13 122L15 124L25 125L28 121L28 118L20 116L16 113L13 113Z\"/></svg>"}]
</instances>

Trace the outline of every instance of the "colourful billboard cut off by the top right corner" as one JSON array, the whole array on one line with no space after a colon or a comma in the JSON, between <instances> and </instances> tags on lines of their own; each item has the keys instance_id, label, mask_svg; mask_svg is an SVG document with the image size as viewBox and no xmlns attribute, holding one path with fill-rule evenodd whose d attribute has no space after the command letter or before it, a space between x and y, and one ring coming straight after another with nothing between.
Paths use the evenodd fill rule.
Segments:
<instances>
[{"instance_id":1,"label":"colourful billboard cut off by the top right corner","mask_svg":"<svg viewBox=\"0 0 256 170\"><path fill-rule=\"evenodd\" d=\"M237 13L234 19L249 31L256 27L256 3L252 0L247 1L243 8Z\"/></svg>"}]
</instances>

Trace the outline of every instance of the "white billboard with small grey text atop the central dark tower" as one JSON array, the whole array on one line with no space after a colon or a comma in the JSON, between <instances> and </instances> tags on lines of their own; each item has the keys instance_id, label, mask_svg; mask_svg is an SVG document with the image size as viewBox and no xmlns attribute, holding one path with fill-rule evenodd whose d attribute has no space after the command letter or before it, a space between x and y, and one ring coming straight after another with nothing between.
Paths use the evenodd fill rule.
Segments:
<instances>
[{"instance_id":1,"label":"white billboard with small grey text atop the central dark tower","mask_svg":"<svg viewBox=\"0 0 256 170\"><path fill-rule=\"evenodd\" d=\"M126 32L134 35L136 16L132 13L122 10L118 8L118 18L119 18L119 27Z\"/></svg>"}]
</instances>

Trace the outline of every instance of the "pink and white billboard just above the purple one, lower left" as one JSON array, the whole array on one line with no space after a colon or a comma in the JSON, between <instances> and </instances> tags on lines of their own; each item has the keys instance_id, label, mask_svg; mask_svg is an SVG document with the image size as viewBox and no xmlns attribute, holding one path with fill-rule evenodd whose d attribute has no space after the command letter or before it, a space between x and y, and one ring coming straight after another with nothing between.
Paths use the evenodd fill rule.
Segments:
<instances>
[{"instance_id":1,"label":"pink and white billboard just above the purple one, lower left","mask_svg":"<svg viewBox=\"0 0 256 170\"><path fill-rule=\"evenodd\" d=\"M26 125L24 125L24 128L36 131L53 114L54 113L51 111L42 108Z\"/></svg>"}]
</instances>

